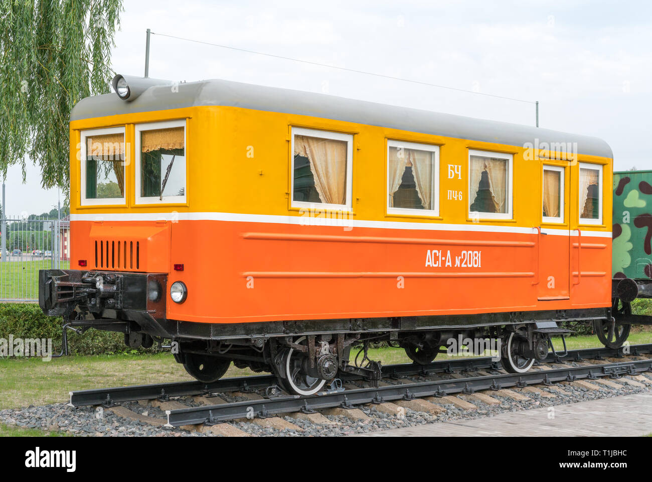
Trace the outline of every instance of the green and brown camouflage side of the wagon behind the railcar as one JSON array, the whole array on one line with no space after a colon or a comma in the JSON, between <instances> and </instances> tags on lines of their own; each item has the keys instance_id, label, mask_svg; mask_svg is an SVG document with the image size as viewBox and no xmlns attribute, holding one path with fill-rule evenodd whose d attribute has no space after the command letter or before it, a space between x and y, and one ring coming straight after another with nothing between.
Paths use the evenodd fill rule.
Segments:
<instances>
[{"instance_id":1,"label":"green and brown camouflage side of the wagon behind the railcar","mask_svg":"<svg viewBox=\"0 0 652 482\"><path fill-rule=\"evenodd\" d=\"M652 170L614 172L614 278L652 278Z\"/></svg>"}]
</instances>

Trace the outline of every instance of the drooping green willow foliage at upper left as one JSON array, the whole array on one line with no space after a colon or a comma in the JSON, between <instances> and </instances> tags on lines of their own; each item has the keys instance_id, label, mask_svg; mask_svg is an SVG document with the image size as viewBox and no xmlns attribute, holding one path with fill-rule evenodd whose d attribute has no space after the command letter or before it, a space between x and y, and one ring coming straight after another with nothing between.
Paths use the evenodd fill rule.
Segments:
<instances>
[{"instance_id":1,"label":"drooping green willow foliage at upper left","mask_svg":"<svg viewBox=\"0 0 652 482\"><path fill-rule=\"evenodd\" d=\"M0 172L26 157L68 191L68 119L107 93L122 0L0 0Z\"/></svg>"}]
</instances>

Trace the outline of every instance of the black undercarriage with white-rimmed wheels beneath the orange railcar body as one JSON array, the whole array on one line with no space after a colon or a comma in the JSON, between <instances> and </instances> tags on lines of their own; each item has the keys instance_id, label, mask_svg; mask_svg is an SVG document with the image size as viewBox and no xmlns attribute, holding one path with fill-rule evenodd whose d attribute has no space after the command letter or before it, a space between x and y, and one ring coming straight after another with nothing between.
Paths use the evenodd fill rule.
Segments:
<instances>
[{"instance_id":1,"label":"black undercarriage with white-rimmed wheels beneath the orange railcar body","mask_svg":"<svg viewBox=\"0 0 652 482\"><path fill-rule=\"evenodd\" d=\"M404 349L416 364L428 364L439 353L481 355L494 348L505 370L522 373L535 359L546 358L552 347L551 335L569 332L548 322L470 330L303 334L267 340L179 340L175 359L190 375L206 383L224 375L233 362L237 368L272 372L288 393L304 395L321 391L340 372L377 381L381 362L371 360L368 349L379 342Z\"/></svg>"}]
</instances>

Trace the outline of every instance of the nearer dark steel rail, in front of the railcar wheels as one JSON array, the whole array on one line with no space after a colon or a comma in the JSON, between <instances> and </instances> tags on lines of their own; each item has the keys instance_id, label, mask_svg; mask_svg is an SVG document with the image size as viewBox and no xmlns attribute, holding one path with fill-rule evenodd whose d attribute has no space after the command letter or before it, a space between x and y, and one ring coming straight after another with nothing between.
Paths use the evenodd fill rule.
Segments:
<instances>
[{"instance_id":1,"label":"nearer dark steel rail, in front of the railcar wheels","mask_svg":"<svg viewBox=\"0 0 652 482\"><path fill-rule=\"evenodd\" d=\"M569 366L553 370L537 370L524 374L501 374L452 380L422 381L366 389L346 390L311 396L278 396L265 400L248 400L228 404L166 410L167 426L215 424L233 419L269 417L278 413L310 412L324 408L353 408L359 404L410 400L424 396L445 396L452 393L473 393L478 390L499 390L506 387L546 385L558 381L596 379L604 376L638 374L652 370L652 359L625 361L591 366Z\"/></svg>"}]
</instances>

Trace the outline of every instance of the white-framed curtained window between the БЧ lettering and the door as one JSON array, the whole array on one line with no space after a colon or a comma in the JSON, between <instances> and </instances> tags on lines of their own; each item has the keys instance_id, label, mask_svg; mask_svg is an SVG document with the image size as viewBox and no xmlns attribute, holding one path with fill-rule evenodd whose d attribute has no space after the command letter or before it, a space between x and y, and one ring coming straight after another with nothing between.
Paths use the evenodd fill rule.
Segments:
<instances>
[{"instance_id":1,"label":"white-framed curtained window between the \u0411\u0427 lettering and the door","mask_svg":"<svg viewBox=\"0 0 652 482\"><path fill-rule=\"evenodd\" d=\"M469 216L512 219L512 158L469 150Z\"/></svg>"}]
</instances>

